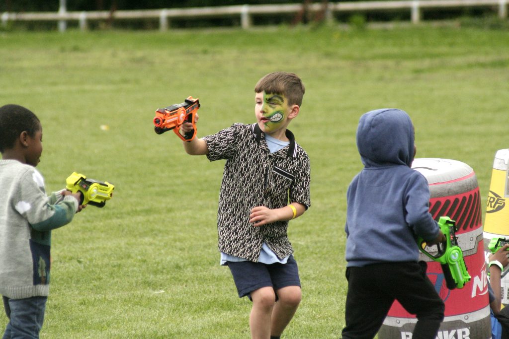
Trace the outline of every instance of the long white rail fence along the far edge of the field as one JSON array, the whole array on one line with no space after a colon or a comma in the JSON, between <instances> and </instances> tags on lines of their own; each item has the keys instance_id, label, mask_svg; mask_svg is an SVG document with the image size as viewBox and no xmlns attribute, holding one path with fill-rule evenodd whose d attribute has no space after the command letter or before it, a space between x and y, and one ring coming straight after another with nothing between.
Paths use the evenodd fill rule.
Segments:
<instances>
[{"instance_id":1,"label":"long white rail fence along the far edge of the field","mask_svg":"<svg viewBox=\"0 0 509 339\"><path fill-rule=\"evenodd\" d=\"M507 2L509 0L396 0L396 1L366 1L366 2L336 2L327 3L326 8L320 3L310 4L310 12L324 11L325 18L331 19L337 12L370 12L387 10L409 10L412 23L421 20L423 9L465 8L465 7L493 7L500 18L507 18ZM88 22L92 20L127 20L127 19L158 19L159 29L167 30L169 20L240 17L242 28L252 25L253 15L292 14L302 10L301 4L289 5L240 5L196 7L183 9L156 9L131 11L90 11L68 12L61 6L58 12L9 13L0 15L0 22L6 26L9 21L58 21L59 30L66 30L67 21L77 21L79 29L86 30Z\"/></svg>"}]
</instances>

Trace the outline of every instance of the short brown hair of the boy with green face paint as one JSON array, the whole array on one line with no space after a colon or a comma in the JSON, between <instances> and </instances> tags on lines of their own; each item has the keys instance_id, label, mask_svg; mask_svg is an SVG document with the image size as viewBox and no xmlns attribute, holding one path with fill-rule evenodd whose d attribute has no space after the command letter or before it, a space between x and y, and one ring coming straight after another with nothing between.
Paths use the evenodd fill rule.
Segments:
<instances>
[{"instance_id":1,"label":"short brown hair of the boy with green face paint","mask_svg":"<svg viewBox=\"0 0 509 339\"><path fill-rule=\"evenodd\" d=\"M254 93L281 94L287 97L289 105L302 105L304 96L304 84L294 73L274 72L261 78L256 86Z\"/></svg>"}]
</instances>

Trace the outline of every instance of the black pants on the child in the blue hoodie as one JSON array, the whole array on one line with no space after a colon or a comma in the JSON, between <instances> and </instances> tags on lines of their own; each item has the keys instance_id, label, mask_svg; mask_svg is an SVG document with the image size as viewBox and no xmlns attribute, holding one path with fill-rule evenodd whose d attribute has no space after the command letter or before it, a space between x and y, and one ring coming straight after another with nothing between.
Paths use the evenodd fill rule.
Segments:
<instances>
[{"instance_id":1,"label":"black pants on the child in the blue hoodie","mask_svg":"<svg viewBox=\"0 0 509 339\"><path fill-rule=\"evenodd\" d=\"M426 276L425 262L348 267L346 277L343 339L373 339L394 300L417 317L413 339L435 339L445 305Z\"/></svg>"}]
</instances>

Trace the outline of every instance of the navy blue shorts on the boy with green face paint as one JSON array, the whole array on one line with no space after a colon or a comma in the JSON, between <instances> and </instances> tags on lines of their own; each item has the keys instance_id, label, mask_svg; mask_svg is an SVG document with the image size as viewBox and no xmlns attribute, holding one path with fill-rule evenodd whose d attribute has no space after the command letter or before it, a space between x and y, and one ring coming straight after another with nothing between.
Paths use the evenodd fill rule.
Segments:
<instances>
[{"instance_id":1,"label":"navy blue shorts on the boy with green face paint","mask_svg":"<svg viewBox=\"0 0 509 339\"><path fill-rule=\"evenodd\" d=\"M286 264L263 264L252 261L227 262L233 275L239 298L247 296L251 299L251 292L262 287L272 287L277 290L288 286L299 286L299 269L297 262L290 256Z\"/></svg>"}]
</instances>

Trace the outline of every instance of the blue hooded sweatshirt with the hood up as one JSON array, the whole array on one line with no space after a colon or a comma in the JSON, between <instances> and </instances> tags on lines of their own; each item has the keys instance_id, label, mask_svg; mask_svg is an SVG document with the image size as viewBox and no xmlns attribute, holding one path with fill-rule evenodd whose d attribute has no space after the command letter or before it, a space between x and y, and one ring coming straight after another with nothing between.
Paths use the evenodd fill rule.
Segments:
<instances>
[{"instance_id":1,"label":"blue hooded sweatshirt with the hood up","mask_svg":"<svg viewBox=\"0 0 509 339\"><path fill-rule=\"evenodd\" d=\"M399 109L363 114L357 148L364 168L347 192L347 266L418 261L415 236L431 241L439 228L429 213L428 181L410 167L410 117Z\"/></svg>"}]
</instances>

